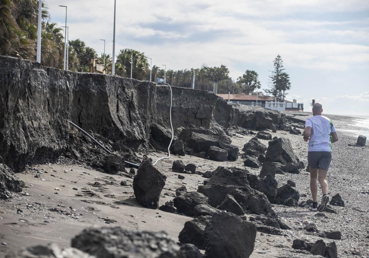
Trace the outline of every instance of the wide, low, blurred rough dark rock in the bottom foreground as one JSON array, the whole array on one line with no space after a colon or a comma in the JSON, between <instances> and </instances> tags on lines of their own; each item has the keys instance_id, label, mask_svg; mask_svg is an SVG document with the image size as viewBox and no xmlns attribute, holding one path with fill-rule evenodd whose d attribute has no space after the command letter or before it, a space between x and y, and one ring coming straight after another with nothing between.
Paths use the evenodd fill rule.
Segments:
<instances>
[{"instance_id":1,"label":"wide, low, blurred rough dark rock in the bottom foreground","mask_svg":"<svg viewBox=\"0 0 369 258\"><path fill-rule=\"evenodd\" d=\"M121 227L83 230L72 238L72 247L96 258L176 258L179 246L164 232L131 231ZM155 248L153 248L155 247Z\"/></svg>"}]
</instances>

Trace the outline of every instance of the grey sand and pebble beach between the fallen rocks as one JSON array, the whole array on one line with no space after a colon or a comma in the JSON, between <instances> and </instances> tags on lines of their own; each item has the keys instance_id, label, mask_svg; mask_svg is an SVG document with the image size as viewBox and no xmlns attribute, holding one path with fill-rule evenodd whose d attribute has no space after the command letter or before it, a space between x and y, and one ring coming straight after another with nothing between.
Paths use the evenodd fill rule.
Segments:
<instances>
[{"instance_id":1,"label":"grey sand and pebble beach between the fallen rocks","mask_svg":"<svg viewBox=\"0 0 369 258\"><path fill-rule=\"evenodd\" d=\"M291 114L290 114L291 115ZM306 119L308 113L296 116ZM328 116L328 115L327 115ZM282 230L282 235L257 233L254 252L251 257L309 257L292 249L292 241L303 238L311 241L320 239L318 233L303 230L308 223L316 223L320 232L339 230L342 240L335 240L338 257L366 257L369 255L369 149L368 147L348 146L356 137L341 131L352 123L351 117L328 116L335 123L340 137L334 143L331 168L328 175L330 195L339 193L345 207L334 206L335 213L324 212L318 216L306 208L287 207L273 204L277 215L289 222L294 229ZM271 130L266 130L271 132ZM307 143L302 136L277 130L272 136L287 137L291 140L294 153L307 165ZM241 150L251 135L232 136L232 144ZM261 140L268 146L267 140ZM243 152L241 151L240 155ZM154 160L165 156L163 152L151 151L148 156ZM142 158L141 153L137 153ZM185 164L197 165L197 170L205 172L218 166L245 168L243 159L237 161L211 161L186 155L172 156L161 161L156 167L167 176L159 205L172 200L175 190L185 185L188 191L197 191L205 178L198 174L184 174L178 179L172 171L172 163L182 160ZM258 175L259 169L247 168ZM128 169L129 170L129 169ZM134 198L132 178L122 175L109 175L76 165L42 164L28 167L17 174L25 182L26 188L16 197L0 201L0 257L24 247L45 243L57 243L61 247L70 245L70 240L86 227L121 226L127 229L166 231L174 240L183 229L183 224L192 217L175 213L143 208ZM296 182L300 201L310 199L309 173L276 175L278 185L287 180ZM127 181L128 186L121 186ZM318 199L321 192L318 192ZM247 215L248 219L255 215ZM326 239L327 240L327 239Z\"/></svg>"}]
</instances>

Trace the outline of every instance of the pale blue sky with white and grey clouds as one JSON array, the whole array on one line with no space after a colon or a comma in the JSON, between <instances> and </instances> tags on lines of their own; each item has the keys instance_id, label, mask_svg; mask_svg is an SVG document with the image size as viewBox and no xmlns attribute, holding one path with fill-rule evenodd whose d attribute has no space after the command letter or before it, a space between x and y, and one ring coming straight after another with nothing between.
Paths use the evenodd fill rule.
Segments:
<instances>
[{"instance_id":1,"label":"pale blue sky with white and grey clouds","mask_svg":"<svg viewBox=\"0 0 369 258\"><path fill-rule=\"evenodd\" d=\"M114 0L48 0L51 20L69 39L98 53L113 49ZM246 69L268 87L273 59L281 55L292 88L309 109L321 101L327 114L369 115L368 0L117 0L115 53L133 48L153 64L184 69L225 64L236 79Z\"/></svg>"}]
</instances>

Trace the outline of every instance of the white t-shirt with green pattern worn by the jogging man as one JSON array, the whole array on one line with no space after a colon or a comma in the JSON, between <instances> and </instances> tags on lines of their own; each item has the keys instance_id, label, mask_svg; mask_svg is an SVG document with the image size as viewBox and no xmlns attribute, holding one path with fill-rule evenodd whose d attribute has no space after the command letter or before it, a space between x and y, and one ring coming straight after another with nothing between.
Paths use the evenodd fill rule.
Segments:
<instances>
[{"instance_id":1,"label":"white t-shirt with green pattern worn by the jogging man","mask_svg":"<svg viewBox=\"0 0 369 258\"><path fill-rule=\"evenodd\" d=\"M305 127L311 127L308 151L331 151L332 133L336 131L332 120L322 116L312 116L306 119Z\"/></svg>"}]
</instances>

